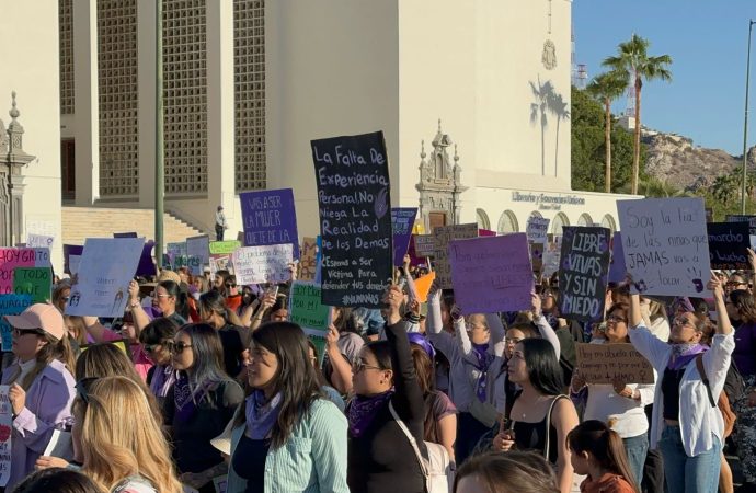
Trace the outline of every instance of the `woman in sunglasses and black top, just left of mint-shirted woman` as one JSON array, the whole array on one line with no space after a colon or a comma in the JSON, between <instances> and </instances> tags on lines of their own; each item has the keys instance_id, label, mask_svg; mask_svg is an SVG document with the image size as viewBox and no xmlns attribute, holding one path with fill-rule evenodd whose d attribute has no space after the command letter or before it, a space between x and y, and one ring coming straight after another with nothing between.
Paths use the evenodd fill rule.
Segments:
<instances>
[{"instance_id":1,"label":"woman in sunglasses and black top, just left of mint-shirted woman","mask_svg":"<svg viewBox=\"0 0 756 493\"><path fill-rule=\"evenodd\" d=\"M220 337L211 325L184 325L169 351L177 370L164 404L173 458L183 483L201 493L214 493L213 479L225 474L228 467L210 440L226 428L244 391L226 374Z\"/></svg>"}]
</instances>

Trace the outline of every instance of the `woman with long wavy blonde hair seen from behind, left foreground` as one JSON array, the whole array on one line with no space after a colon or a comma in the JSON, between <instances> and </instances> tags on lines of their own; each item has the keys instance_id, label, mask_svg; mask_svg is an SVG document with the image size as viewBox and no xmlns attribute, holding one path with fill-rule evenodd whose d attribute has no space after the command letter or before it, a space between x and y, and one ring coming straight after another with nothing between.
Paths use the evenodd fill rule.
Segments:
<instances>
[{"instance_id":1,"label":"woman with long wavy blonde hair seen from behind, left foreground","mask_svg":"<svg viewBox=\"0 0 756 493\"><path fill-rule=\"evenodd\" d=\"M73 455L100 488L119 493L181 493L160 422L139 385L126 377L77 383Z\"/></svg>"}]
</instances>

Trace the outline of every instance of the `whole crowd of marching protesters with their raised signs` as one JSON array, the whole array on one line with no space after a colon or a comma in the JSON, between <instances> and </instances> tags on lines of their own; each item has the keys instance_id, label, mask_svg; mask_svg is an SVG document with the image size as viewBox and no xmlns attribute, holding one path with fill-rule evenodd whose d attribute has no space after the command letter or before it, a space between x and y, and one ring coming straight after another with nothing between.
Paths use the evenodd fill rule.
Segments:
<instances>
[{"instance_id":1,"label":"whole crowd of marching protesters with their raised signs","mask_svg":"<svg viewBox=\"0 0 756 493\"><path fill-rule=\"evenodd\" d=\"M748 217L646 198L621 232L424 232L381 133L311 148L317 238L287 188L240 194L239 240L89 238L64 273L45 241L0 249L4 491L62 468L81 491L714 492L724 447L751 481Z\"/></svg>"}]
</instances>

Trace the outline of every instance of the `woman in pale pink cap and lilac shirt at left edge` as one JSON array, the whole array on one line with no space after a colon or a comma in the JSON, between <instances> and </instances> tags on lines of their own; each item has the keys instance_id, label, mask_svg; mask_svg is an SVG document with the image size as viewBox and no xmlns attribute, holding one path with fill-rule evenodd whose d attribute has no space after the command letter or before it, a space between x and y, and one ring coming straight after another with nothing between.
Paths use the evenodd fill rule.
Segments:
<instances>
[{"instance_id":1,"label":"woman in pale pink cap and lilac shirt at left edge","mask_svg":"<svg viewBox=\"0 0 756 493\"><path fill-rule=\"evenodd\" d=\"M75 390L69 370L73 356L58 309L32 305L20 316L5 316L5 321L13 328L16 357L2 372L13 412L10 490L34 470L54 429L69 422Z\"/></svg>"}]
</instances>

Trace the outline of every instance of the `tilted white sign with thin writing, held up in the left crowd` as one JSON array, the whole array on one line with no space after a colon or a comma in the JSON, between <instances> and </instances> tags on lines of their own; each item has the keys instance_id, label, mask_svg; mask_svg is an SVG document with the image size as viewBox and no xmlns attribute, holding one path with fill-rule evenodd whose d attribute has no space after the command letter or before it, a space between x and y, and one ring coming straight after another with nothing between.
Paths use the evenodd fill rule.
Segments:
<instances>
[{"instance_id":1,"label":"tilted white sign with thin writing, held up in the left crowd","mask_svg":"<svg viewBox=\"0 0 756 493\"><path fill-rule=\"evenodd\" d=\"M144 245L144 238L88 238L66 314L123 316Z\"/></svg>"}]
</instances>

